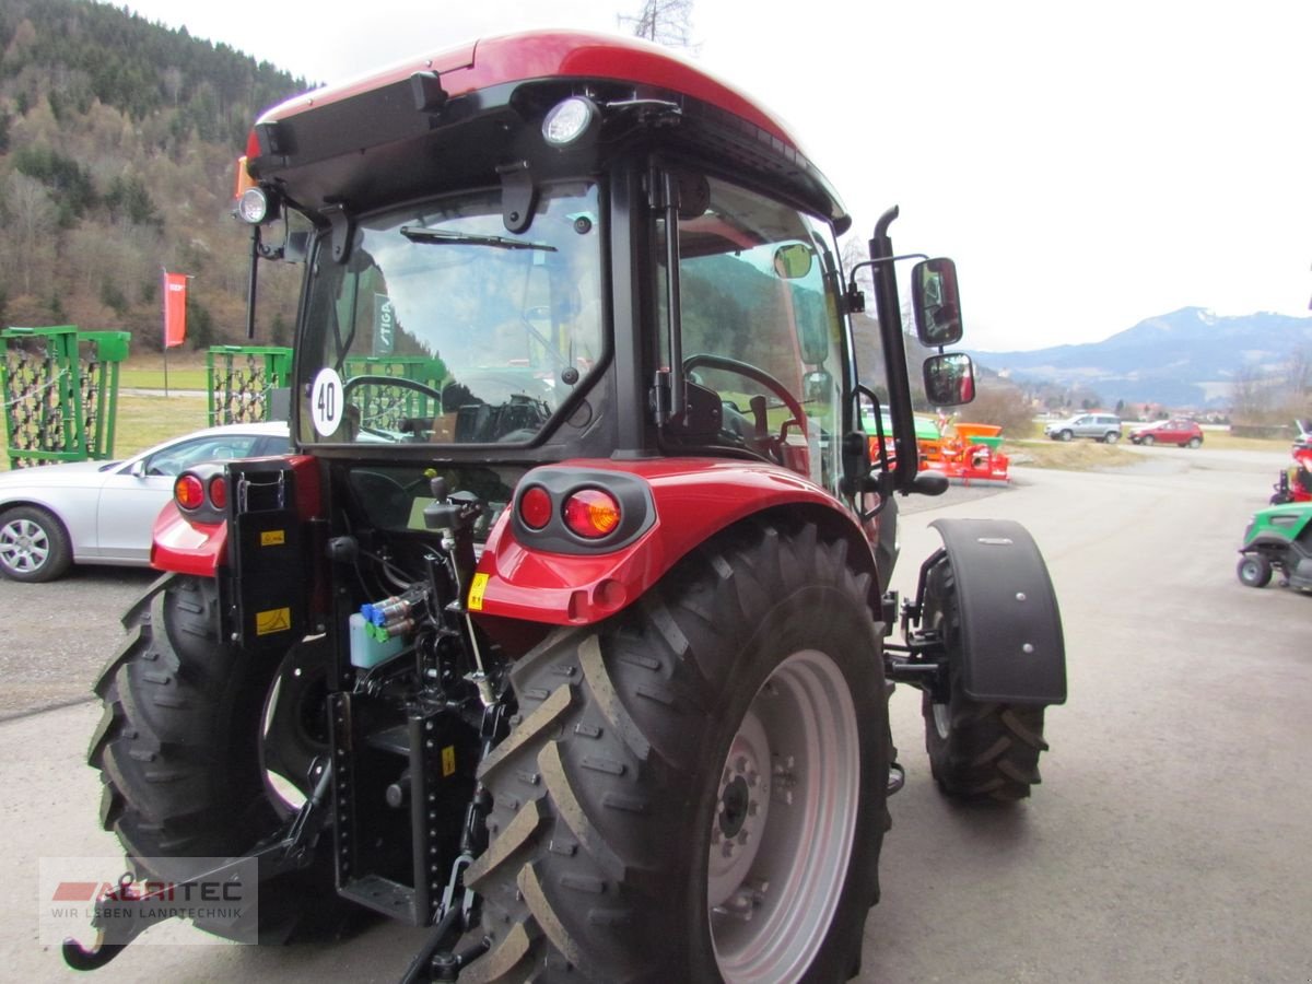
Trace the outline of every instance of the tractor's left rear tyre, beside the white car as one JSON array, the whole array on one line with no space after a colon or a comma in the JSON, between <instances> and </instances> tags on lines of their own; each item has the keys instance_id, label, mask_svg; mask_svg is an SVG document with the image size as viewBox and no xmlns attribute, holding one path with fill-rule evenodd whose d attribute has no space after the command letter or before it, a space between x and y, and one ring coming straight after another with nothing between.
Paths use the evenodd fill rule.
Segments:
<instances>
[{"instance_id":1,"label":"tractor's left rear tyre, beside the white car","mask_svg":"<svg viewBox=\"0 0 1312 984\"><path fill-rule=\"evenodd\" d=\"M311 706L327 651L294 647L279 660L220 643L218 604L214 581L165 575L123 617L127 639L96 684L101 823L139 878L180 882L201 872L195 858L248 853L304 794L312 753L327 752L321 705L318 718ZM261 883L260 942L336 929L332 874L321 850L308 869Z\"/></svg>"}]
</instances>

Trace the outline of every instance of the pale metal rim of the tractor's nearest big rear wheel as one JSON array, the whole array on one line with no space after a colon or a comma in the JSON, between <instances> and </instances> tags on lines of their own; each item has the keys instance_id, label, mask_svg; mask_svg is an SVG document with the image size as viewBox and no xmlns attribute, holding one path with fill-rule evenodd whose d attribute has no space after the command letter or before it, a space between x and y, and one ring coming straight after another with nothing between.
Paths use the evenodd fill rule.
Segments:
<instances>
[{"instance_id":1,"label":"pale metal rim of the tractor's nearest big rear wheel","mask_svg":"<svg viewBox=\"0 0 1312 984\"><path fill-rule=\"evenodd\" d=\"M861 743L846 680L803 651L748 708L719 771L707 909L728 984L796 980L815 959L848 874Z\"/></svg>"}]
</instances>

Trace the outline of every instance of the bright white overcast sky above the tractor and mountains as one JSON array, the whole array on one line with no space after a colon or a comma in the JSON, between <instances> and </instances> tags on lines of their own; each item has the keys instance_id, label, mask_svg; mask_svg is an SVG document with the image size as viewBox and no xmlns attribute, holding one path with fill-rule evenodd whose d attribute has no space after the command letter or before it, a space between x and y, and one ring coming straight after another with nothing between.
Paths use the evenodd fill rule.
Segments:
<instances>
[{"instance_id":1,"label":"bright white overcast sky above the tractor and mountains","mask_svg":"<svg viewBox=\"0 0 1312 984\"><path fill-rule=\"evenodd\" d=\"M312 83L639 0L118 0ZM340 16L335 10L349 10ZM789 122L862 241L956 260L970 348L1308 315L1309 0L695 0L694 59Z\"/></svg>"}]
</instances>

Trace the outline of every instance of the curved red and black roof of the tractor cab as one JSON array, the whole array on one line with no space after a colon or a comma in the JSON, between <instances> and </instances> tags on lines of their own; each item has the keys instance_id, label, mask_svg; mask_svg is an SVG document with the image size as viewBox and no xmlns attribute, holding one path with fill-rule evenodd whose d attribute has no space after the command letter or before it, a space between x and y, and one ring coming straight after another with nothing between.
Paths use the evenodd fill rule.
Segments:
<instances>
[{"instance_id":1,"label":"curved red and black roof of the tractor cab","mask_svg":"<svg viewBox=\"0 0 1312 984\"><path fill-rule=\"evenodd\" d=\"M433 73L441 87L440 106L416 105L416 76ZM377 180L366 177L370 164L361 157L379 151L373 167L396 164L401 144L413 152L416 143L436 142L450 126L493 117L504 122L512 109L522 115L525 100L516 93L552 84L597 84L623 91L627 98L676 102L684 118L674 143L716 155L728 147L731 157L741 157L736 164L783 182L840 232L850 224L846 209L796 138L758 102L666 49L581 31L482 38L297 96L256 122L248 169L257 180L281 184L311 211L335 198L361 198L378 188ZM466 147L479 146L471 136L482 140L487 131L471 127Z\"/></svg>"}]
</instances>

